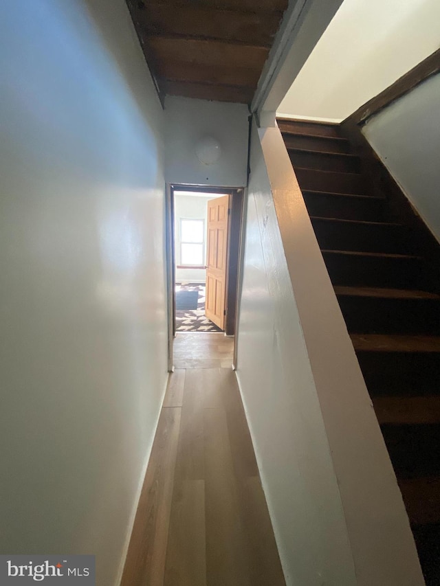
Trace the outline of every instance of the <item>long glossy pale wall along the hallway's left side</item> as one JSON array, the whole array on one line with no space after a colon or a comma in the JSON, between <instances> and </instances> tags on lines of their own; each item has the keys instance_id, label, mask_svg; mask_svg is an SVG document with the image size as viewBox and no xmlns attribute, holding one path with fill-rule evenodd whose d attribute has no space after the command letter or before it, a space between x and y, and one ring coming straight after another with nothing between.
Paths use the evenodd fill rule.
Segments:
<instances>
[{"instance_id":1,"label":"long glossy pale wall along the hallway's left side","mask_svg":"<svg viewBox=\"0 0 440 586\"><path fill-rule=\"evenodd\" d=\"M2 4L0 552L118 583L166 383L163 111L124 0Z\"/></svg>"}]
</instances>

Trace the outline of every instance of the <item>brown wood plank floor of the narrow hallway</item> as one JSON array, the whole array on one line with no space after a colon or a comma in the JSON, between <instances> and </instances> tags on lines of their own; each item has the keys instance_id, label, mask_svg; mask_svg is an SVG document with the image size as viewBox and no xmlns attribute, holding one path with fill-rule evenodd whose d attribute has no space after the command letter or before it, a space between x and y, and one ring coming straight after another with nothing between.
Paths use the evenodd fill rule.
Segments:
<instances>
[{"instance_id":1,"label":"brown wood plank floor of the narrow hallway","mask_svg":"<svg viewBox=\"0 0 440 586\"><path fill-rule=\"evenodd\" d=\"M231 368L170 375L121 585L285 586Z\"/></svg>"}]
</instances>

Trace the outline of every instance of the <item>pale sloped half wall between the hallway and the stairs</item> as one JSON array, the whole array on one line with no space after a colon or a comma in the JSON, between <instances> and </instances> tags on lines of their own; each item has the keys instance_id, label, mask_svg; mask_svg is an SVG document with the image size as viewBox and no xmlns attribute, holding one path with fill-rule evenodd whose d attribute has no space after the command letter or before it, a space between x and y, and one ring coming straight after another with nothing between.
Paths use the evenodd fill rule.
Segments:
<instances>
[{"instance_id":1,"label":"pale sloped half wall between the hallway and the stairs","mask_svg":"<svg viewBox=\"0 0 440 586\"><path fill-rule=\"evenodd\" d=\"M247 209L236 372L287 584L421 586L395 474L278 128L253 133Z\"/></svg>"}]
</instances>

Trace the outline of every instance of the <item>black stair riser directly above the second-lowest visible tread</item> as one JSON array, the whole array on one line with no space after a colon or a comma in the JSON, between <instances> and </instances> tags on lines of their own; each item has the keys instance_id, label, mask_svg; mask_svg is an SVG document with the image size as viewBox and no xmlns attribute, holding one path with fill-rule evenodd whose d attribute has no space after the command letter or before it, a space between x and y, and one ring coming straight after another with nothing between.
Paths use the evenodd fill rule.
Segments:
<instances>
[{"instance_id":1,"label":"black stair riser directly above the second-lowest visible tread","mask_svg":"<svg viewBox=\"0 0 440 586\"><path fill-rule=\"evenodd\" d=\"M438 352L364 352L358 361L371 396L440 394Z\"/></svg>"}]
</instances>

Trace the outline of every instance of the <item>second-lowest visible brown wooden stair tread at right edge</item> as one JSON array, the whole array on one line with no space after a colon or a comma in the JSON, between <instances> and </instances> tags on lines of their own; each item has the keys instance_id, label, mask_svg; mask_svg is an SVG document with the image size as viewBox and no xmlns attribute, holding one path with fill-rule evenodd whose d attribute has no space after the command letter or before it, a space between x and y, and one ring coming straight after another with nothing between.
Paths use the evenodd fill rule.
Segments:
<instances>
[{"instance_id":1,"label":"second-lowest visible brown wooden stair tread at right edge","mask_svg":"<svg viewBox=\"0 0 440 586\"><path fill-rule=\"evenodd\" d=\"M373 398L373 405L380 424L440 422L440 396L381 396Z\"/></svg>"}]
</instances>

